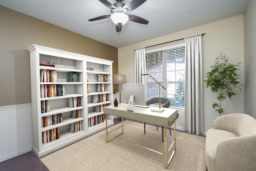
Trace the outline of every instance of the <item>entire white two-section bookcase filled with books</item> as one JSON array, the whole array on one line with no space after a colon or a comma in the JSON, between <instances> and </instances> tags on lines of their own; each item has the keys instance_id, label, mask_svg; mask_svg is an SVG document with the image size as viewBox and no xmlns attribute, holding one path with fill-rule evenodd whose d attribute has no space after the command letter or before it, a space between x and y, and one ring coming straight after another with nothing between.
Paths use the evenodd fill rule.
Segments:
<instances>
[{"instance_id":1,"label":"entire white two-section bookcase filled with books","mask_svg":"<svg viewBox=\"0 0 256 171\"><path fill-rule=\"evenodd\" d=\"M103 115L103 111L96 112L92 103L92 97L95 94L109 94L109 100L100 102L98 105L112 105L112 61L84 56L62 50L56 50L44 46L32 45L28 48L30 52L30 78L31 78L31 101L32 101L32 121L33 121L33 147L32 150L38 157L42 157L48 153L56 151L66 145L74 143L84 137L87 137L97 131L105 129L105 122L100 120L100 123L91 126L88 123L89 118ZM41 66L40 61L52 62L53 64L61 65L62 67ZM87 71L86 68L94 68L94 71ZM57 79L54 82L42 82L42 72L46 74L47 70L54 71L57 74ZM41 71L41 72L40 72ZM75 82L70 81L70 73L76 74ZM41 75L40 75L41 73ZM51 73L51 72L49 72ZM75 76L74 74L74 76ZM108 82L98 83L97 74L106 74ZM52 74L51 74L52 75ZM87 75L94 80L87 82ZM54 75L56 78L56 76ZM87 93L87 84L92 87L92 93ZM104 84L104 92L96 92L97 84ZM56 85L65 87L65 93L54 95ZM46 93L44 96L44 87L52 90L52 93ZM57 88L58 89L58 88ZM94 92L95 90L95 92ZM57 91L57 90L56 90ZM42 95L43 94L43 95ZM80 99L80 105L77 107L69 107L69 98ZM44 111L41 106L41 101L50 103L50 111ZM80 116L73 118L72 112L79 110ZM52 124L50 119L54 115L62 113L63 121ZM42 121L44 119L44 122ZM48 120L47 120L48 119ZM109 117L108 125L114 124L113 117ZM45 122L48 122L47 126ZM50 123L50 124L49 124ZM70 124L78 123L76 132L70 132ZM89 126L90 125L90 126ZM50 130L59 131L59 139L50 138ZM44 137L47 131L48 141ZM46 141L45 141L46 140Z\"/></svg>"}]
</instances>

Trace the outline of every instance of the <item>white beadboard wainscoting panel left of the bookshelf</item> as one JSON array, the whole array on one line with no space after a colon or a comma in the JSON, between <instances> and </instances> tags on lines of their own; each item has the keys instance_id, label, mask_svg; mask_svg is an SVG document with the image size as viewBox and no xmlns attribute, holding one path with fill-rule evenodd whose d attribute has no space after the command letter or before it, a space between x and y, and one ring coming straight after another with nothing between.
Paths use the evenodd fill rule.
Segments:
<instances>
[{"instance_id":1,"label":"white beadboard wainscoting panel left of the bookshelf","mask_svg":"<svg viewBox=\"0 0 256 171\"><path fill-rule=\"evenodd\" d=\"M0 162L32 150L30 104L0 107Z\"/></svg>"}]
</instances>

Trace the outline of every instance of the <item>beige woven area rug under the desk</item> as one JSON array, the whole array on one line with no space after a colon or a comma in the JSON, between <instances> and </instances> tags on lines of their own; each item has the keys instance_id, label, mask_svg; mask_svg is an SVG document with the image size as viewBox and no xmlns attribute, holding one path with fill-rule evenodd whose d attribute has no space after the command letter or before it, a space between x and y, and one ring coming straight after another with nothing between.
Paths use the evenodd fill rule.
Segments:
<instances>
[{"instance_id":1,"label":"beige woven area rug under the desk","mask_svg":"<svg viewBox=\"0 0 256 171\"><path fill-rule=\"evenodd\" d=\"M109 130L120 126L114 125ZM124 134L120 137L164 152L161 128L136 121L124 121ZM118 135L121 129L113 131ZM109 137L110 138L110 137ZM174 139L167 130L168 148ZM168 157L170 157L171 152ZM205 137L176 131L176 153L170 165L164 168L164 156L137 147L120 139L105 142L105 130L59 151L41 158L50 171L206 171Z\"/></svg>"}]
</instances>

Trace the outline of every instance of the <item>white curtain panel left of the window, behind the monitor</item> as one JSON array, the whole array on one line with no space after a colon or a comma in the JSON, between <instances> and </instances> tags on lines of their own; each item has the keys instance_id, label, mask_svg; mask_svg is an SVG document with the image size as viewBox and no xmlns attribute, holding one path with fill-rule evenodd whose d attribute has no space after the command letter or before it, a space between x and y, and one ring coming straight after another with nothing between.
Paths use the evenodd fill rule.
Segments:
<instances>
[{"instance_id":1,"label":"white curtain panel left of the window, behind the monitor","mask_svg":"<svg viewBox=\"0 0 256 171\"><path fill-rule=\"evenodd\" d=\"M146 93L146 76L141 74L146 74L146 52L145 48L140 48L136 50L135 57L135 83L144 84L145 95Z\"/></svg>"}]
</instances>

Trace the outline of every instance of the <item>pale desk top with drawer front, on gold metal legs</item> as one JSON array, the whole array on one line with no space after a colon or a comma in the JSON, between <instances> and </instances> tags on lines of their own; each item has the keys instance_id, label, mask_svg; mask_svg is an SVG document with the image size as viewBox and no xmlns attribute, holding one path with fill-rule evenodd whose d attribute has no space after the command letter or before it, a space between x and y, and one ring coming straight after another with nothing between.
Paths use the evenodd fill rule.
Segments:
<instances>
[{"instance_id":1,"label":"pale desk top with drawer front, on gold metal legs","mask_svg":"<svg viewBox=\"0 0 256 171\"><path fill-rule=\"evenodd\" d=\"M151 109L159 109L159 107L150 106L148 108L134 107L136 111L127 111L127 104L119 103L117 107L114 105L104 107L104 113L108 115L115 115L170 127L171 123L178 117L177 109L164 108L162 112L151 111Z\"/></svg>"}]
</instances>

